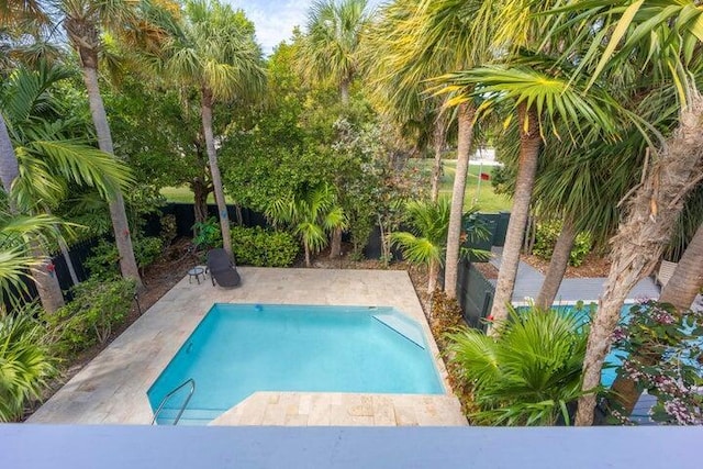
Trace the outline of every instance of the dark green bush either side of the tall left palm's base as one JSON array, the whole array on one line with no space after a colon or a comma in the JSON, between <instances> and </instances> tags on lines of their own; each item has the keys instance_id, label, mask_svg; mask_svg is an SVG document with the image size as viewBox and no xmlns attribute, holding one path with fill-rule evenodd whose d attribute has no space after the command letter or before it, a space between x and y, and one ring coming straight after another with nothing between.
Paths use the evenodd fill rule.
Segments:
<instances>
[{"instance_id":1,"label":"dark green bush either side of the tall left palm's base","mask_svg":"<svg viewBox=\"0 0 703 469\"><path fill-rule=\"evenodd\" d=\"M132 244L136 265L144 269L152 264L164 252L164 242L155 236L136 236ZM90 271L91 277L111 279L120 275L120 253L118 246L105 239L100 239L92 248L91 256L86 259L85 266Z\"/></svg>"}]
</instances>

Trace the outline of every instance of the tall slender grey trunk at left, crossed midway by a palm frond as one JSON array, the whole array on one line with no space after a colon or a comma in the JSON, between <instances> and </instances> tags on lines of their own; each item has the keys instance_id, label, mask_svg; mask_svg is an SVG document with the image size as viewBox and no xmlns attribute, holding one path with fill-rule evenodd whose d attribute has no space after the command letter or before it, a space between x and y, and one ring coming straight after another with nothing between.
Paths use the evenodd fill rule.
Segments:
<instances>
[{"instance_id":1,"label":"tall slender grey trunk at left, crossed midway by a palm frond","mask_svg":"<svg viewBox=\"0 0 703 469\"><path fill-rule=\"evenodd\" d=\"M83 52L80 51L81 59L83 59ZM100 88L98 85L98 70L97 68L86 66L87 60L83 60L83 81L88 90L88 102L90 104L90 113L92 115L92 122L96 126L96 133L98 134L98 146L101 150L114 155L112 147L112 135L110 133L110 125L108 124L108 115L102 103L102 97L100 96ZM142 278L140 277L140 269L134 258L134 248L132 247L132 237L130 235L130 225L127 223L127 215L124 210L124 199L122 192L118 191L113 200L110 200L110 216L112 219L112 228L114 231L114 239L118 245L118 252L120 253L120 270L125 278L133 278L136 281L137 289L143 289Z\"/></svg>"}]
</instances>

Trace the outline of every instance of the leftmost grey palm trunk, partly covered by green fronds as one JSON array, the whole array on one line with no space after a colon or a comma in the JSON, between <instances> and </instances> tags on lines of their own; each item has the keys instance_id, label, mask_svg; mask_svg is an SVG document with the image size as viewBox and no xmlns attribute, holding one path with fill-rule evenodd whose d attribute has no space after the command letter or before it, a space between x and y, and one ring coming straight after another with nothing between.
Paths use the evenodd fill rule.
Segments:
<instances>
[{"instance_id":1,"label":"leftmost grey palm trunk, partly covered by green fronds","mask_svg":"<svg viewBox=\"0 0 703 469\"><path fill-rule=\"evenodd\" d=\"M20 176L20 165L12 147L12 141L4 123L2 114L0 114L0 182L5 193L10 194L12 182ZM16 208L10 199L10 211L16 213ZM40 293L42 308L48 313L53 313L64 305L64 293L58 284L58 278L53 270L51 259L45 256L38 243L31 242L30 249L37 258L44 259L38 266L31 270L32 280L36 284Z\"/></svg>"}]
</instances>

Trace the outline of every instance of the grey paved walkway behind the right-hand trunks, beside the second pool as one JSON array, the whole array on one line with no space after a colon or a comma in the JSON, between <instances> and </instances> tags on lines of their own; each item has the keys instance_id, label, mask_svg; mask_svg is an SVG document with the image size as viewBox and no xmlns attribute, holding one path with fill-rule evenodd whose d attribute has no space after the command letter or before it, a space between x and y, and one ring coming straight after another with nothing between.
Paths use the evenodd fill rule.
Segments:
<instances>
[{"instance_id":1,"label":"grey paved walkway behind the right-hand trunks, beside the second pool","mask_svg":"<svg viewBox=\"0 0 703 469\"><path fill-rule=\"evenodd\" d=\"M502 248L493 247L492 252L493 258L491 258L490 263L500 269ZM515 278L515 290L513 291L512 299L513 304L524 306L529 302L528 299L537 298L544 280L545 276L539 272L539 270L521 260L517 267L517 277ZM598 299L603 292L605 280L605 277L563 279L557 293L556 303L574 304L578 301L584 301L585 303L598 302ZM495 280L489 281L495 284ZM643 298L659 298L659 287L657 287L655 281L649 277L644 278L635 286L625 302L634 303L636 300Z\"/></svg>"}]
</instances>

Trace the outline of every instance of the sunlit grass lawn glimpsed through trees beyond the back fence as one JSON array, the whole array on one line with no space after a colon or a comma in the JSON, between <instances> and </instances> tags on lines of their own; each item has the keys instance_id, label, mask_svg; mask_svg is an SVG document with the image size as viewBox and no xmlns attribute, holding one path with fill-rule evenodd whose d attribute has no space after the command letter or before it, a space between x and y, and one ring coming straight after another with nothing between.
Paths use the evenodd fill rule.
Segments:
<instances>
[{"instance_id":1,"label":"sunlit grass lawn glimpsed through trees beyond the back fence","mask_svg":"<svg viewBox=\"0 0 703 469\"><path fill-rule=\"evenodd\" d=\"M433 160L432 159L422 159L417 160L419 165L426 166L427 169L431 168ZM444 164L444 175L442 176L442 185L439 187L439 193L442 196L446 196L451 198L451 186L454 185L454 174L456 172L457 161L454 159L445 159ZM481 168L482 172L491 174L491 166L483 166ZM466 193L464 197L464 208L465 210L477 205L479 210L483 213L495 213L501 211L510 211L512 202L505 196L496 194L493 192L493 187L491 186L491 181L481 181L481 186L479 189L479 166L470 165L469 174L467 175L466 180ZM193 193L188 189L188 187L178 187L178 188L164 188L161 189L161 194L166 197L166 200L169 202L180 202L180 203L193 203ZM227 203L233 203L234 201L226 198ZM208 198L208 203L215 203L214 196L211 193Z\"/></svg>"}]
</instances>

